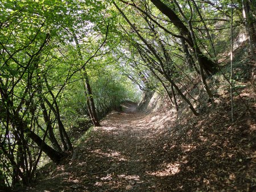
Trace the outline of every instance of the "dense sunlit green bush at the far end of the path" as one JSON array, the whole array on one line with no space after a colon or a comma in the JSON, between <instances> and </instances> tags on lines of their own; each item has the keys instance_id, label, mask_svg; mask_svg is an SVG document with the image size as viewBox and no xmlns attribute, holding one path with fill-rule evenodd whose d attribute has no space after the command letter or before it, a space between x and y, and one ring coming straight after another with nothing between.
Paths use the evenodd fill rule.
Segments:
<instances>
[{"instance_id":1,"label":"dense sunlit green bush at the far end of the path","mask_svg":"<svg viewBox=\"0 0 256 192\"><path fill-rule=\"evenodd\" d=\"M101 115L118 108L123 101L139 101L140 93L135 91L135 85L112 67L107 65L95 71L92 77L93 97Z\"/></svg>"}]
</instances>

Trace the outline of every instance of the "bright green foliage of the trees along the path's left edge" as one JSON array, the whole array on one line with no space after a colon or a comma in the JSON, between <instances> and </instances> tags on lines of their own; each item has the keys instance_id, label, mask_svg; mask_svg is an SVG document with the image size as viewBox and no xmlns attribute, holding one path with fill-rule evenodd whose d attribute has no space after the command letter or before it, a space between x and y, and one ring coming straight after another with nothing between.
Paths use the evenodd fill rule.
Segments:
<instances>
[{"instance_id":1,"label":"bright green foliage of the trees along the path's left edge","mask_svg":"<svg viewBox=\"0 0 256 192\"><path fill-rule=\"evenodd\" d=\"M49 124L56 141L48 133L45 143L61 152L66 149L61 144L56 148L56 143L65 143L68 137L61 140L60 121L68 129L83 122L88 124L85 106L68 94L68 89L81 89L73 86L80 81L81 69L73 34L90 40L82 44L88 59L101 43L100 37L94 37L105 28L102 15L96 14L102 9L99 1L1 1L0 172L5 173L9 186L20 182L27 185L34 178L41 145L38 143L39 149L35 147L31 131L44 139ZM92 25L96 21L98 24ZM71 110L72 105L79 107ZM19 166L25 172L16 172Z\"/></svg>"}]
</instances>

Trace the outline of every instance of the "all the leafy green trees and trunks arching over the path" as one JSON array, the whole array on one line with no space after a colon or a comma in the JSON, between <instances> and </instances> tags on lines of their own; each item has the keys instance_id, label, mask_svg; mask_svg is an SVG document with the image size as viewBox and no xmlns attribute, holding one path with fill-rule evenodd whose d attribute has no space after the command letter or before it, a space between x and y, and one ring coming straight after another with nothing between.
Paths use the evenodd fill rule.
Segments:
<instances>
[{"instance_id":1,"label":"all the leafy green trees and trunks arching over the path","mask_svg":"<svg viewBox=\"0 0 256 192\"><path fill-rule=\"evenodd\" d=\"M229 36L231 19L245 26L255 60L254 4L1 1L0 187L28 185L42 154L59 163L72 152L73 127L100 126L142 91L165 93L176 110L183 102L200 115L195 103L216 97L208 82L222 73L220 38ZM206 101L189 94L191 85Z\"/></svg>"}]
</instances>

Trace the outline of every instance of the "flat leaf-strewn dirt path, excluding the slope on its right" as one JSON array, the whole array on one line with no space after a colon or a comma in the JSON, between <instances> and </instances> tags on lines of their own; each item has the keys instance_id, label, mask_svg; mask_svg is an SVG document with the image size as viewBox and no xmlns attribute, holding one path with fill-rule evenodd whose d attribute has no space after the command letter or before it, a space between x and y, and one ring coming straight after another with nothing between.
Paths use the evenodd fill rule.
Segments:
<instances>
[{"instance_id":1,"label":"flat leaf-strewn dirt path, excluding the slope on its right","mask_svg":"<svg viewBox=\"0 0 256 192\"><path fill-rule=\"evenodd\" d=\"M122 108L106 116L76 149L74 160L59 165L34 191L166 191L170 180L162 177L178 168L158 170L164 152L156 141L156 118L132 102Z\"/></svg>"}]
</instances>

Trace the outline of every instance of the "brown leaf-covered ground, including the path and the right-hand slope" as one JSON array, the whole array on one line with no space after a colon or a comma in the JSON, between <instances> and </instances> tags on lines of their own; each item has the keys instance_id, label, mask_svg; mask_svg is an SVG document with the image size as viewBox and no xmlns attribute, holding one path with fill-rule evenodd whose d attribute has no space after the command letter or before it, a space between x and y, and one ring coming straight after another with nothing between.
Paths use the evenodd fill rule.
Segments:
<instances>
[{"instance_id":1,"label":"brown leaf-covered ground, including the path and the right-hand slope","mask_svg":"<svg viewBox=\"0 0 256 192\"><path fill-rule=\"evenodd\" d=\"M255 191L255 123L247 112L228 123L228 106L183 121L166 109L123 108L27 190Z\"/></svg>"}]
</instances>

